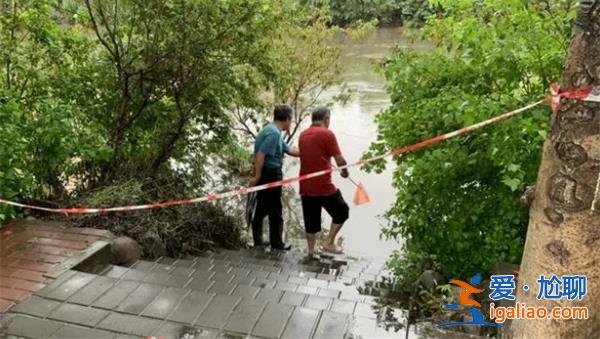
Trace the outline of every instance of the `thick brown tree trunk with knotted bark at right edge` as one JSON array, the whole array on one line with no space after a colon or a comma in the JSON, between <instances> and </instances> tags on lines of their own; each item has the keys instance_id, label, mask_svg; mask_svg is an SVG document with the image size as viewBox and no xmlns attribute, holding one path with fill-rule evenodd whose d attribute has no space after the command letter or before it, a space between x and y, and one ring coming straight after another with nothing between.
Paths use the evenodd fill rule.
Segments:
<instances>
[{"instance_id":1,"label":"thick brown tree trunk with knotted bark at right edge","mask_svg":"<svg viewBox=\"0 0 600 339\"><path fill-rule=\"evenodd\" d=\"M600 0L581 0L561 86L600 86ZM587 306L590 320L516 320L515 338L600 338L600 103L563 99L544 144L517 301ZM537 300L538 278L587 275L580 302Z\"/></svg>"}]
</instances>

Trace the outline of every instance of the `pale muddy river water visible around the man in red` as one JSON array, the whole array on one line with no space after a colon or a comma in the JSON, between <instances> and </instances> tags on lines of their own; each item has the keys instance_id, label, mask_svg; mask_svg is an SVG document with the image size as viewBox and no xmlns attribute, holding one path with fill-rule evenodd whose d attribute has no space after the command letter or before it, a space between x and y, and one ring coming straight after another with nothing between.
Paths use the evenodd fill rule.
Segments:
<instances>
[{"instance_id":1,"label":"pale muddy river water visible around the man in red","mask_svg":"<svg viewBox=\"0 0 600 339\"><path fill-rule=\"evenodd\" d=\"M375 115L387 107L389 97L385 91L385 80L374 71L376 63L381 61L395 47L426 49L424 44L411 44L399 28L381 28L361 40L343 39L344 80L353 90L351 99L346 104L336 104L332 110L331 129L335 132L342 152L346 159L353 162L359 159L368 149L369 144L376 140L377 126ZM339 93L339 88L332 88L326 96L332 97ZM289 158L288 158L289 159ZM366 173L358 168L351 169L350 176L355 181L361 181L369 195L371 203L352 206L350 219L341 232L344 247L352 254L370 257L387 257L399 247L396 241L380 239L380 231L385 220L381 217L394 201L392 189L393 166L388 166L381 174ZM298 174L298 164L288 160L288 176ZM354 196L355 186L349 181L334 174L334 183L340 188L349 203ZM296 185L297 189L297 185ZM297 192L297 190L296 190ZM295 205L298 206L299 205ZM298 210L287 209L287 220L297 220L288 223L288 238L302 238L301 229L293 229L299 225L301 214ZM324 213L326 216L326 213ZM293 219L297 217L299 219ZM331 219L324 218L328 227ZM292 228L292 229L291 229Z\"/></svg>"}]
</instances>

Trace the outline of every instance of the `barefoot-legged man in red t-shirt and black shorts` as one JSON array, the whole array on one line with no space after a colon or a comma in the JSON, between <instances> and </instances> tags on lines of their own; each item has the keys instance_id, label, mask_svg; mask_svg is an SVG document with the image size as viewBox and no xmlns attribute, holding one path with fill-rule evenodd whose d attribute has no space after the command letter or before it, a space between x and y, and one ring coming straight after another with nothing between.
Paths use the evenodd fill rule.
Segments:
<instances>
[{"instance_id":1,"label":"barefoot-legged man in red t-shirt and black shorts","mask_svg":"<svg viewBox=\"0 0 600 339\"><path fill-rule=\"evenodd\" d=\"M335 135L328 129L330 118L329 109L325 107L315 109L312 113L312 125L300 134L300 175L331 168L331 158L335 159L338 166L346 165ZM348 170L343 169L341 175L347 178ZM322 208L325 208L333 219L323 250L342 253L342 249L335 244L335 237L344 222L348 220L350 208L340 190L331 181L331 173L301 181L300 195L308 255L312 257L316 254L316 234L321 231Z\"/></svg>"}]
</instances>

